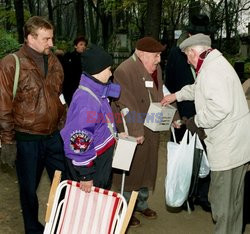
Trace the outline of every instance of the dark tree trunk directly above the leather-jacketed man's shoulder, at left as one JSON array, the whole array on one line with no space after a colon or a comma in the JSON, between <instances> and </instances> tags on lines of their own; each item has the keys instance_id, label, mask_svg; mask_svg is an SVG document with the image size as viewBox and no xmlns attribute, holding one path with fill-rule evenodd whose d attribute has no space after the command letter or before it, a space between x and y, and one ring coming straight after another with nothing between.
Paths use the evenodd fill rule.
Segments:
<instances>
[{"instance_id":1,"label":"dark tree trunk directly above the leather-jacketed man's shoulder, at left","mask_svg":"<svg viewBox=\"0 0 250 234\"><path fill-rule=\"evenodd\" d=\"M24 13L23 13L23 0L14 0L14 6L16 11L16 23L18 42L23 43L23 25L24 25Z\"/></svg>"}]
</instances>

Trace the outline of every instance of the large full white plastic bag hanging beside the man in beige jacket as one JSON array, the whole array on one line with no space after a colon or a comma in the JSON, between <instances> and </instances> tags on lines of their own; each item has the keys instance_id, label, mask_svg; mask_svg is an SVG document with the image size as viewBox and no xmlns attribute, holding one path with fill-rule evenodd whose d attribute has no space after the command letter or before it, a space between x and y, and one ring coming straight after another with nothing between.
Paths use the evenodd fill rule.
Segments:
<instances>
[{"instance_id":1,"label":"large full white plastic bag hanging beside the man in beige jacket","mask_svg":"<svg viewBox=\"0 0 250 234\"><path fill-rule=\"evenodd\" d=\"M187 143L189 135L189 143ZM180 207L187 199L193 170L195 134L186 130L180 144L167 143L168 160L165 198L168 206Z\"/></svg>"}]
</instances>

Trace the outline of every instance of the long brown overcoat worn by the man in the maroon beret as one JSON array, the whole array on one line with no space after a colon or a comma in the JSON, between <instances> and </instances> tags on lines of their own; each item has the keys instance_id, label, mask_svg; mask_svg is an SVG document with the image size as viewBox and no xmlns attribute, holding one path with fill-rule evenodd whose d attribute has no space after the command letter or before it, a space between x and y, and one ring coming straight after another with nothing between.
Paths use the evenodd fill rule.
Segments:
<instances>
[{"instance_id":1,"label":"long brown overcoat worn by the man in the maroon beret","mask_svg":"<svg viewBox=\"0 0 250 234\"><path fill-rule=\"evenodd\" d=\"M146 81L153 84L152 88L146 87ZM128 108L129 114L125 120L129 135L145 137L144 143L137 145L130 171L126 175L125 191L138 190L142 187L153 189L155 186L159 132L149 130L143 123L150 105L149 92L153 102L160 102L163 98L162 72L159 65L157 81L158 88L135 54L121 63L114 72L114 82L121 85L121 95L119 100L112 103L113 110L117 113L123 108ZM117 128L119 132L124 131L122 121L117 121ZM121 186L121 174L122 171L116 171L113 175L113 185L117 188Z\"/></svg>"}]
</instances>

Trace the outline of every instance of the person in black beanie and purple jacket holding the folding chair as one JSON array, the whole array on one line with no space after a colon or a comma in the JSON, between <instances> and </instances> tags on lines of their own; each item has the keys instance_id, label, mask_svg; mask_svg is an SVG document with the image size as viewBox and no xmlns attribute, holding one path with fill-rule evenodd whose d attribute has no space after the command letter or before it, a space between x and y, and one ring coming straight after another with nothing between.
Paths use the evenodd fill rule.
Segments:
<instances>
[{"instance_id":1,"label":"person in black beanie and purple jacket holding the folding chair","mask_svg":"<svg viewBox=\"0 0 250 234\"><path fill-rule=\"evenodd\" d=\"M93 46L82 55L83 74L61 130L69 177L81 189L111 187L116 128L108 97L119 97L120 86L109 82L112 57Z\"/></svg>"}]
</instances>

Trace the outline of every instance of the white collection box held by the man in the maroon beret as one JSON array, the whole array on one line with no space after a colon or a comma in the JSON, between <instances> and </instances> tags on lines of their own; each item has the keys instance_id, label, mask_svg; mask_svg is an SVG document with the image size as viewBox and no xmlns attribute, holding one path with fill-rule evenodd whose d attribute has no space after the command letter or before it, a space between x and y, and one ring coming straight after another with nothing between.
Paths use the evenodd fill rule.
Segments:
<instances>
[{"instance_id":1,"label":"white collection box held by the man in the maroon beret","mask_svg":"<svg viewBox=\"0 0 250 234\"><path fill-rule=\"evenodd\" d=\"M175 112L176 108L171 105L162 106L159 102L152 102L144 125L154 132L167 131L171 126Z\"/></svg>"}]
</instances>

